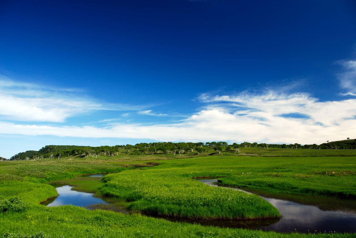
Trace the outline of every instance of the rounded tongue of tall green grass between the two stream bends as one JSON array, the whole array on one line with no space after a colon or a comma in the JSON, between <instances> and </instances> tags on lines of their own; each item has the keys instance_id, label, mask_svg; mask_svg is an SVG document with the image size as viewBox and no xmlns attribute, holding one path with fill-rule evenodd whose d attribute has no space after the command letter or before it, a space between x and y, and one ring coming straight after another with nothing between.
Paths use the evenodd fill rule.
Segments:
<instances>
[{"instance_id":1,"label":"rounded tongue of tall green grass between the two stream bends","mask_svg":"<svg viewBox=\"0 0 356 238\"><path fill-rule=\"evenodd\" d=\"M199 219L278 218L269 202L253 194L211 187L177 169L129 170L103 178L100 192L131 202L129 209L154 216Z\"/></svg>"}]
</instances>

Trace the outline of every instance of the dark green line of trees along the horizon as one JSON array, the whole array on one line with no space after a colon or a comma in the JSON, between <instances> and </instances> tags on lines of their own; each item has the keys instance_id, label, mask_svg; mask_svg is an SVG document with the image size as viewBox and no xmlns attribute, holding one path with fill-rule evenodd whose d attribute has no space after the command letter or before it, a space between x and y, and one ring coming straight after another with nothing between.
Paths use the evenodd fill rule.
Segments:
<instances>
[{"instance_id":1,"label":"dark green line of trees along the horizon","mask_svg":"<svg viewBox=\"0 0 356 238\"><path fill-rule=\"evenodd\" d=\"M209 155L215 153L220 154L225 151L226 153L231 152L239 152L241 154L240 148L244 149L356 149L356 139L347 139L345 141L334 141L320 144L312 145L300 145L298 143L295 144L266 144L257 142L249 143L243 142L241 144L233 143L229 145L224 141L220 142L203 142L192 143L192 142L153 142L153 143L138 143L135 146L130 144L122 145L122 146L100 146L100 147L90 147L90 146L45 146L40 150L28 150L26 152L18 153L10 158L10 160L29 160L29 159L53 159L53 158L63 158L68 156L77 156L77 157L92 157L98 158L100 155L109 155L109 156L118 156L119 153L125 153L130 155L143 155L143 154L161 154L161 155L173 155L185 154L188 156L192 155L200 155L203 152L209 152ZM213 153L211 153L213 152ZM302 152L303 154L308 154L307 156L311 156L310 152ZM330 156L329 153L324 153L326 155L317 155L320 152L311 152L315 154L315 156ZM348 156L350 153L354 152L345 152L345 155ZM242 153L243 154L243 153ZM293 152L294 154L294 152ZM340 156L338 153L335 153L335 156ZM283 155L285 156L285 155ZM289 155L286 155L289 156ZM292 155L296 156L296 155ZM305 155L303 155L305 156ZM1 158L1 157L0 157Z\"/></svg>"}]
</instances>

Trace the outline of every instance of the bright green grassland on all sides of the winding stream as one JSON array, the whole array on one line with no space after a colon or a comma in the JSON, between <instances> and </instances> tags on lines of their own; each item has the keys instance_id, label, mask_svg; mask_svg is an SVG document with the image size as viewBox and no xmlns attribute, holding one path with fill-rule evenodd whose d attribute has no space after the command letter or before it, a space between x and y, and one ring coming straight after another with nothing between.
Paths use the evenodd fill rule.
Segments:
<instances>
[{"instance_id":1,"label":"bright green grassland on all sides of the winding stream","mask_svg":"<svg viewBox=\"0 0 356 238\"><path fill-rule=\"evenodd\" d=\"M299 152L300 150L303 152ZM320 154L314 154L314 151ZM325 154L328 151L332 156ZM307 152L312 154L305 154ZM282 149L280 151L274 148L240 148L240 154L222 152L220 155L208 156L213 153L208 151L200 157L193 153L182 154L182 156L119 153L115 156L97 158L64 157L62 160L0 162L0 201L19 197L23 202L21 211L7 210L0 213L2 224L0 235L6 232L11 234L43 232L51 237L354 236L322 233L282 234L204 227L143 215L147 213L158 216L212 219L278 216L275 208L269 206L269 203L266 204L264 200L261 201L257 196L209 187L192 179L197 177L220 177L221 183L258 189L270 194L305 197L313 195L324 197L325 200L341 197L350 204L355 203L356 153L354 150ZM295 156L289 157L293 153ZM146 163L151 161L160 164ZM75 178L80 174L106 172L114 174L106 175L101 181ZM75 189L80 191L96 192L97 196L116 197L124 201L123 206L133 214L90 211L73 206L40 205L40 202L57 195L55 188L48 183L58 180L63 184L75 185L77 186ZM240 206L233 207L232 204Z\"/></svg>"}]
</instances>

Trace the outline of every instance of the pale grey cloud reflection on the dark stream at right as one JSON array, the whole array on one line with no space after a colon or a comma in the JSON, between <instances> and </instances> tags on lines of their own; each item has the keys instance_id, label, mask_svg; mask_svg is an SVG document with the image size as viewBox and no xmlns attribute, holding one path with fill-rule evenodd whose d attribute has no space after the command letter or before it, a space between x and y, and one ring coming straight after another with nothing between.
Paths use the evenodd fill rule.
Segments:
<instances>
[{"instance_id":1,"label":"pale grey cloud reflection on the dark stream at right","mask_svg":"<svg viewBox=\"0 0 356 238\"><path fill-rule=\"evenodd\" d=\"M201 179L203 183L213 185L216 179ZM230 188L234 190L240 190ZM242 190L240 190L242 191ZM314 231L336 231L336 232L356 232L356 214L342 211L322 211L316 206L303 205L297 202L291 202L281 199L265 198L266 201L276 207L281 213L282 218L267 227L261 227L266 230L279 232L299 232L314 233Z\"/></svg>"}]
</instances>

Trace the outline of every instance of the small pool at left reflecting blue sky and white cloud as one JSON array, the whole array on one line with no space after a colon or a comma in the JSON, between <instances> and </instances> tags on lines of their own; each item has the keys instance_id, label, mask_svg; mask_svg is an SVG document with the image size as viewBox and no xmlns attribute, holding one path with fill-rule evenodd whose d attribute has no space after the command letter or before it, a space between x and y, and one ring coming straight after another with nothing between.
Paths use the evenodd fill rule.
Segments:
<instances>
[{"instance_id":1,"label":"small pool at left reflecting blue sky and white cloud","mask_svg":"<svg viewBox=\"0 0 356 238\"><path fill-rule=\"evenodd\" d=\"M78 192L70 189L72 189L72 186L69 185L57 187L56 190L59 196L47 206L57 207L62 205L73 205L79 207L86 207L88 205L96 203L106 203L105 201L99 198L93 197L93 194L89 194L87 192Z\"/></svg>"}]
</instances>

